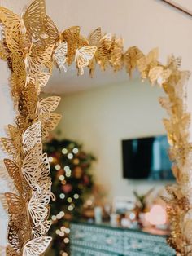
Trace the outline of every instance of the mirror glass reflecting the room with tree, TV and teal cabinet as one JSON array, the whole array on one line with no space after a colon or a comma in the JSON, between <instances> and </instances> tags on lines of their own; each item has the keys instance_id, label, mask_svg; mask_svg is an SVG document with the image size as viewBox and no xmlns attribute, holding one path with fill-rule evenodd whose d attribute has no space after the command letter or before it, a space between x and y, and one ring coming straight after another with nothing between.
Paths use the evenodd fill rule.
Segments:
<instances>
[{"instance_id":1,"label":"mirror glass reflecting the room with tree, TV and teal cabinet","mask_svg":"<svg viewBox=\"0 0 192 256\"><path fill-rule=\"evenodd\" d=\"M159 104L164 91L137 71L129 78L97 69L94 78L87 71L78 79L75 68L58 72L43 93L61 96L63 115L45 145L56 196L48 255L144 255L151 243L157 254L173 255L161 199L175 181Z\"/></svg>"}]
</instances>

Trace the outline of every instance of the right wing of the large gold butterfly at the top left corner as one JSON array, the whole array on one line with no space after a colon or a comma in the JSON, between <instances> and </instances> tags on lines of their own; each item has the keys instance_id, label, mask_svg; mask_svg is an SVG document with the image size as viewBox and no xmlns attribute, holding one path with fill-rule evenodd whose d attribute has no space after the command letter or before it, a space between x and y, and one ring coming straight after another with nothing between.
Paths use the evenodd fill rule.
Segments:
<instances>
[{"instance_id":1,"label":"right wing of the large gold butterfly at the top left corner","mask_svg":"<svg viewBox=\"0 0 192 256\"><path fill-rule=\"evenodd\" d=\"M23 15L25 27L33 38L40 39L44 33L43 20L46 16L46 4L44 0L35 0Z\"/></svg>"}]
</instances>

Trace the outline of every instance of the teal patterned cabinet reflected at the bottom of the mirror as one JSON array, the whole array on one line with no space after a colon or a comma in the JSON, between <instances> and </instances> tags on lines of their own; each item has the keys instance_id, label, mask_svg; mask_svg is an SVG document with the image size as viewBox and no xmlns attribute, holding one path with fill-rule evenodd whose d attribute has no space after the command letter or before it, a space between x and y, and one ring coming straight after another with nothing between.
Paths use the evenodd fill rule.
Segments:
<instances>
[{"instance_id":1,"label":"teal patterned cabinet reflected at the bottom of the mirror","mask_svg":"<svg viewBox=\"0 0 192 256\"><path fill-rule=\"evenodd\" d=\"M165 239L104 224L71 223L71 256L174 256Z\"/></svg>"}]
</instances>

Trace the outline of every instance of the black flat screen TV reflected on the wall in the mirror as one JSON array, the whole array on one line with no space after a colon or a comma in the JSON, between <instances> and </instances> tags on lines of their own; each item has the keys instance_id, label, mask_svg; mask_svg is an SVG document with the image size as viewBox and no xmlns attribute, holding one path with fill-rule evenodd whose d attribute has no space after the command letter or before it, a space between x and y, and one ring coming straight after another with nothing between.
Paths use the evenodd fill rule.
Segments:
<instances>
[{"instance_id":1,"label":"black flat screen TV reflected on the wall in the mirror","mask_svg":"<svg viewBox=\"0 0 192 256\"><path fill-rule=\"evenodd\" d=\"M168 148L165 135L122 140L124 178L173 180Z\"/></svg>"}]
</instances>

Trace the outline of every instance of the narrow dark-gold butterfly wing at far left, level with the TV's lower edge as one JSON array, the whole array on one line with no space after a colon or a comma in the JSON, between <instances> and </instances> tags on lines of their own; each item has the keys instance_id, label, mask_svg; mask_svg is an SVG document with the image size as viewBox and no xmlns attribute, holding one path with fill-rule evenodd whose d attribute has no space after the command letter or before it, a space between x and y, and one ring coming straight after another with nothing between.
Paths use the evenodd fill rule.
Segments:
<instances>
[{"instance_id":1,"label":"narrow dark-gold butterfly wing at far left, level with the TV's lower edge","mask_svg":"<svg viewBox=\"0 0 192 256\"><path fill-rule=\"evenodd\" d=\"M14 161L11 161L10 159L4 159L4 164L7 168L7 172L10 175L11 179L13 179L15 188L21 192L22 191L22 183L21 183L21 177L20 177L20 170L19 167L15 164Z\"/></svg>"}]
</instances>

